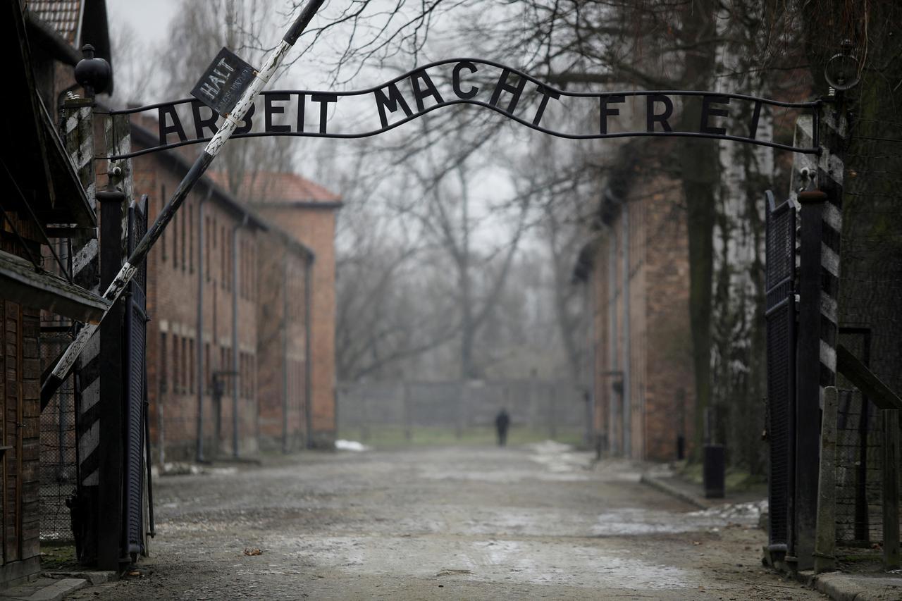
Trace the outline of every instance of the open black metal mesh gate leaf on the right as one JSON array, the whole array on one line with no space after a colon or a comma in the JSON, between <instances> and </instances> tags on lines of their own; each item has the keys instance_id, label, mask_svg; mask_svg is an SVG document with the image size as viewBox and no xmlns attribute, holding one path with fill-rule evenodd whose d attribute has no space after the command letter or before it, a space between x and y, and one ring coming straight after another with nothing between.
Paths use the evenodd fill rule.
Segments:
<instances>
[{"instance_id":1,"label":"open black metal mesh gate leaf on the right","mask_svg":"<svg viewBox=\"0 0 902 601\"><path fill-rule=\"evenodd\" d=\"M770 550L786 551L791 532L796 416L796 208L767 201L765 321L768 346Z\"/></svg>"}]
</instances>

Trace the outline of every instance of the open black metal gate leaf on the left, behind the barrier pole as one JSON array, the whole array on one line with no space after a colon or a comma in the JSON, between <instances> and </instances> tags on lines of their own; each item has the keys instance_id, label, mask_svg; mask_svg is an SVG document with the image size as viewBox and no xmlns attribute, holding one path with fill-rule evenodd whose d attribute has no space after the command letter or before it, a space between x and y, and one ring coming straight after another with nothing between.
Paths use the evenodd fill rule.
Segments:
<instances>
[{"instance_id":1,"label":"open black metal gate leaf on the left, behind the barrier pole","mask_svg":"<svg viewBox=\"0 0 902 601\"><path fill-rule=\"evenodd\" d=\"M147 231L147 195L128 208L128 252ZM124 307L124 512L125 550L132 556L143 553L143 446L147 401L145 338L147 324L147 267L141 264L128 285Z\"/></svg>"}]
</instances>

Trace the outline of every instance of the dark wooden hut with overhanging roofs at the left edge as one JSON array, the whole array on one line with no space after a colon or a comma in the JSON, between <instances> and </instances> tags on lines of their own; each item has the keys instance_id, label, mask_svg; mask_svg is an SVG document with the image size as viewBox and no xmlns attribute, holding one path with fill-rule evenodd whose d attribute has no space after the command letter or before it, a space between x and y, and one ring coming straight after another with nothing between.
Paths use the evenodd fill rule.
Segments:
<instances>
[{"instance_id":1,"label":"dark wooden hut with overhanging roofs at the left edge","mask_svg":"<svg viewBox=\"0 0 902 601\"><path fill-rule=\"evenodd\" d=\"M67 4L75 14L59 23L53 17L60 3L49 0L5 3L0 17L10 87L0 116L0 587L40 569L44 326L68 332L73 320L96 320L107 306L78 285L62 254L96 242L97 227L93 195L66 150L69 132L60 134L54 117L61 92L75 88L70 66L80 53L72 43L87 23L79 3ZM103 42L101 24L94 34ZM74 489L71 473L52 476Z\"/></svg>"}]
</instances>

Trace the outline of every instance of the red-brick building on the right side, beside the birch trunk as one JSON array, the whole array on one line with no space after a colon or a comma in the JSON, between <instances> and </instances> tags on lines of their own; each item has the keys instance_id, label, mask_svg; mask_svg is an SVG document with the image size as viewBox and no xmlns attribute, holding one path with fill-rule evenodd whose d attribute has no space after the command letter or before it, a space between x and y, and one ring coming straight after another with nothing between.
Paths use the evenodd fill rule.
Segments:
<instances>
[{"instance_id":1,"label":"red-brick building on the right side, beside the birch trunk","mask_svg":"<svg viewBox=\"0 0 902 601\"><path fill-rule=\"evenodd\" d=\"M591 311L587 384L603 449L670 460L694 429L686 211L679 182L640 162L642 147L623 147L575 277Z\"/></svg>"}]
</instances>

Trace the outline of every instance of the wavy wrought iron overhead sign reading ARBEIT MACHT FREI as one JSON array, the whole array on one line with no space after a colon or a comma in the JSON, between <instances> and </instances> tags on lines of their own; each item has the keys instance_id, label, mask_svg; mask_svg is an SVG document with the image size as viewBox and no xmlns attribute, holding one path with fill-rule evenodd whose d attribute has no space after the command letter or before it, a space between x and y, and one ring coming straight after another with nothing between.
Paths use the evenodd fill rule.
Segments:
<instances>
[{"instance_id":1,"label":"wavy wrought iron overhead sign reading ARBEIT MACHT FREI","mask_svg":"<svg viewBox=\"0 0 902 601\"><path fill-rule=\"evenodd\" d=\"M217 60L220 57L217 57ZM225 59L224 59L225 60ZM211 69L218 63L214 60ZM246 63L244 63L246 64ZM236 71L239 67L229 65ZM210 71L210 69L207 69ZM231 72L230 72L231 73ZM225 74L220 69L220 74ZM205 74L206 75L206 74ZM219 82L214 82L219 85ZM205 97L202 78L195 96L151 106L140 106L120 114L151 112L157 119L159 144L127 155L136 156L165 148L207 142L218 128L217 113L225 103ZM227 85L227 84L222 84ZM693 131L677 131L676 100L695 103L698 123ZM215 106L216 110L209 106ZM811 147L796 147L759 138L762 114L774 107L796 109L818 118L818 102L780 102L768 98L686 90L633 90L623 92L569 92L553 88L528 74L501 63L480 59L452 59L413 69L377 88L347 92L310 90L264 91L244 116L244 125L233 137L296 135L326 138L363 138L382 134L418 116L444 106L484 106L545 134L570 139L619 138L628 136L681 136L716 138L771 146L796 153L818 153ZM330 112L348 105L354 119L350 131L333 131ZM571 115L586 116L579 130L561 129L548 123L550 106ZM153 114L155 111L155 115ZM312 125L311 125L312 122ZM359 125L360 123L369 125ZM814 131L817 131L815 126Z\"/></svg>"}]
</instances>

